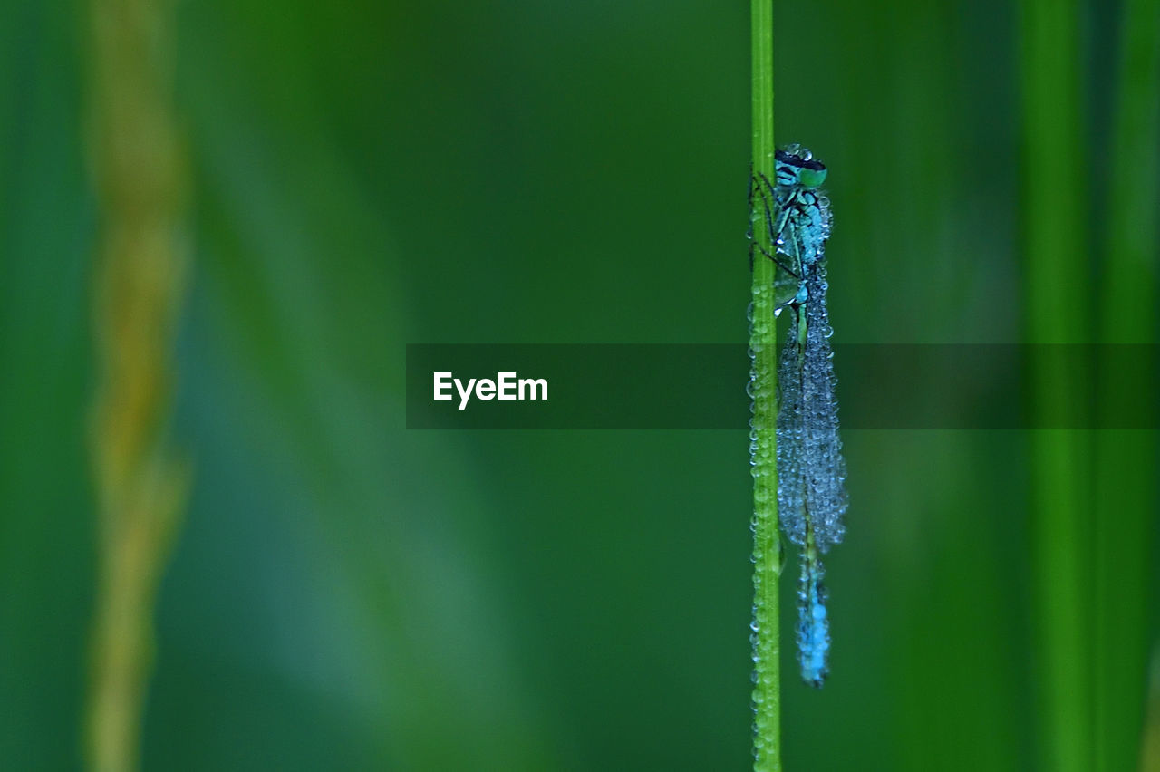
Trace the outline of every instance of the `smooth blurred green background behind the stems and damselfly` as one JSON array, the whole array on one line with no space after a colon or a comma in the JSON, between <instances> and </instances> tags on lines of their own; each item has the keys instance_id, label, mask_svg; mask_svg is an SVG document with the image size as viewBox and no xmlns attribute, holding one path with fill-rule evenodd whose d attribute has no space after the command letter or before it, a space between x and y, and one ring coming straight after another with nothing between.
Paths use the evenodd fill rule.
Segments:
<instances>
[{"instance_id":1,"label":"smooth blurred green background behind the stems and damselfly","mask_svg":"<svg viewBox=\"0 0 1160 772\"><path fill-rule=\"evenodd\" d=\"M835 341L1023 340L1017 16L776 6L778 141L831 168ZM1121 15L1081 19L1099 148ZM195 479L144 769L745 769L745 432L407 431L403 367L408 342L746 340L748 7L186 0L175 23ZM0 6L6 769L82 759L86 35L75 3ZM820 692L783 583L786 769L1046 769L1028 434L844 440ZM1154 490L1132 505L1151 549ZM1145 649L1157 621L1117 629ZM1144 695L1117 699L1139 721Z\"/></svg>"}]
</instances>

